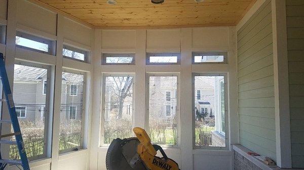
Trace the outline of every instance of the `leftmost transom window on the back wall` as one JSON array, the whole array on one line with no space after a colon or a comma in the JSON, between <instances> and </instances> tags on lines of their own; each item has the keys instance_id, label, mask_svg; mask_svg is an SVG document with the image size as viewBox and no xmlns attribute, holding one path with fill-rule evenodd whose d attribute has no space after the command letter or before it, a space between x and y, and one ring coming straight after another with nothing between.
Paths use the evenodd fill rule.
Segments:
<instances>
[{"instance_id":1,"label":"leftmost transom window on the back wall","mask_svg":"<svg viewBox=\"0 0 304 170\"><path fill-rule=\"evenodd\" d=\"M103 65L133 65L135 54L118 54L104 53L102 54Z\"/></svg>"}]
</instances>

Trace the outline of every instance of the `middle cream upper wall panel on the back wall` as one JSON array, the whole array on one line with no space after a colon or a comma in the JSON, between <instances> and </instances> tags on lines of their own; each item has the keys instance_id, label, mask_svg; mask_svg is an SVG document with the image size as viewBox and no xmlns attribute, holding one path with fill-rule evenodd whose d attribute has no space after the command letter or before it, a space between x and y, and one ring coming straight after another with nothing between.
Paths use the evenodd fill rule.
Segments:
<instances>
[{"instance_id":1,"label":"middle cream upper wall panel on the back wall","mask_svg":"<svg viewBox=\"0 0 304 170\"><path fill-rule=\"evenodd\" d=\"M146 32L147 48L180 49L180 29L151 29Z\"/></svg>"}]
</instances>

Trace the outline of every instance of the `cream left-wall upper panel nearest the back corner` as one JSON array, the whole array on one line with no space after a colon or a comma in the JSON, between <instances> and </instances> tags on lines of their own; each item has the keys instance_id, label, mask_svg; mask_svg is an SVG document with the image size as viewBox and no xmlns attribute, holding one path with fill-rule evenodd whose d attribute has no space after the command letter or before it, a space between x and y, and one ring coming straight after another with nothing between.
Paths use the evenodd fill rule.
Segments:
<instances>
[{"instance_id":1,"label":"cream left-wall upper panel nearest the back corner","mask_svg":"<svg viewBox=\"0 0 304 170\"><path fill-rule=\"evenodd\" d=\"M91 47L92 29L64 18L63 38Z\"/></svg>"}]
</instances>

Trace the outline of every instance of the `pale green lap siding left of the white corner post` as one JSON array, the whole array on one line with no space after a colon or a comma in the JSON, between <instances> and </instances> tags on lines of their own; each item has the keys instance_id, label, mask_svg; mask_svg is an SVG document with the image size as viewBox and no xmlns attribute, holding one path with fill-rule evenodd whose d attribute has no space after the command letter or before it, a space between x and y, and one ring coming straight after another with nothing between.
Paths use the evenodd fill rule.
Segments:
<instances>
[{"instance_id":1,"label":"pale green lap siding left of the white corner post","mask_svg":"<svg viewBox=\"0 0 304 170\"><path fill-rule=\"evenodd\" d=\"M271 1L238 31L240 144L276 160Z\"/></svg>"}]
</instances>

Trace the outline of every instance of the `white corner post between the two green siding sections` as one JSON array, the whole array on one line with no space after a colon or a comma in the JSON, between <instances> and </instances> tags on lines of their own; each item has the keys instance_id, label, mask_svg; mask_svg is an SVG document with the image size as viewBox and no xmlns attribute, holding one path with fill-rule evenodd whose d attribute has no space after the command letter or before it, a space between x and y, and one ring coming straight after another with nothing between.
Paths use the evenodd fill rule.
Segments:
<instances>
[{"instance_id":1,"label":"white corner post between the two green siding sections","mask_svg":"<svg viewBox=\"0 0 304 170\"><path fill-rule=\"evenodd\" d=\"M286 2L272 0L277 165L291 168Z\"/></svg>"}]
</instances>

